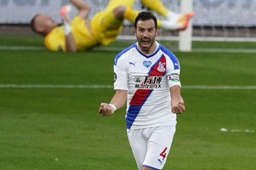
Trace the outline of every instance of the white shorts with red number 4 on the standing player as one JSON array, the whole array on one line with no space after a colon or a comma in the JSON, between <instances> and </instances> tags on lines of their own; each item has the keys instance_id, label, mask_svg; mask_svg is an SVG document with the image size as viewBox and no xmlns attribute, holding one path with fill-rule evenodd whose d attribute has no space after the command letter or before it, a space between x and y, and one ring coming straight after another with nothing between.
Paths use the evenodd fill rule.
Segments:
<instances>
[{"instance_id":1,"label":"white shorts with red number 4 on the standing player","mask_svg":"<svg viewBox=\"0 0 256 170\"><path fill-rule=\"evenodd\" d=\"M137 166L162 169L169 154L175 126L159 126L145 129L127 130Z\"/></svg>"}]
</instances>

